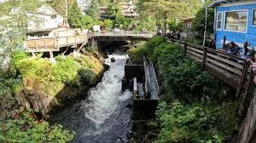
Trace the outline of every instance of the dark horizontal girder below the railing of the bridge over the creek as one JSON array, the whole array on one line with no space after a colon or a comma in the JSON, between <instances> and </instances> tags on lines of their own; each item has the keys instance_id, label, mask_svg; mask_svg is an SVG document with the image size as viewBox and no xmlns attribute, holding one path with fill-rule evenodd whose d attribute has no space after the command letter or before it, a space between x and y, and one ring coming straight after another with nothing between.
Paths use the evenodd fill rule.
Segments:
<instances>
[{"instance_id":1,"label":"dark horizontal girder below the railing of the bridge over the creek","mask_svg":"<svg viewBox=\"0 0 256 143\"><path fill-rule=\"evenodd\" d=\"M133 37L133 36L124 36L124 37L113 37L113 36L96 36L93 37L95 41L148 41L152 37Z\"/></svg>"}]
</instances>

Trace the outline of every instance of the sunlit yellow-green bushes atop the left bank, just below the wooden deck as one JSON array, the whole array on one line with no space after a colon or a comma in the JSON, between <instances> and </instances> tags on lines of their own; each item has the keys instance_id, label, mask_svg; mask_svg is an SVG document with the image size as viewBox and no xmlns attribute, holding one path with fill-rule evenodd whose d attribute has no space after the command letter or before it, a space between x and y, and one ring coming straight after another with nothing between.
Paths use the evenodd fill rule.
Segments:
<instances>
[{"instance_id":1,"label":"sunlit yellow-green bushes atop the left bank, just below the wooden deck","mask_svg":"<svg viewBox=\"0 0 256 143\"><path fill-rule=\"evenodd\" d=\"M16 66L24 78L31 77L39 82L70 84L78 83L77 80L81 76L90 79L88 82L91 82L102 69L100 61L91 60L87 56L83 56L81 59L73 58L73 56L66 58L59 56L56 57L55 63L50 63L49 60L42 58L26 58L18 61ZM88 74L89 71L90 74ZM86 75L90 77L84 77Z\"/></svg>"}]
</instances>

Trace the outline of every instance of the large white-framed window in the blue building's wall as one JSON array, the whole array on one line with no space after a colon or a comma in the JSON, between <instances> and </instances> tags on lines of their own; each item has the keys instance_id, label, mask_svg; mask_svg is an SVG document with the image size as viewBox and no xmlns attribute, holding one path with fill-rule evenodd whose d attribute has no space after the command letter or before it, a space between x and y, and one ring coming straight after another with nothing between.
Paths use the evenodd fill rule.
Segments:
<instances>
[{"instance_id":1,"label":"large white-framed window in the blue building's wall","mask_svg":"<svg viewBox=\"0 0 256 143\"><path fill-rule=\"evenodd\" d=\"M247 31L247 11L226 12L225 30Z\"/></svg>"}]
</instances>

